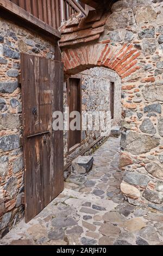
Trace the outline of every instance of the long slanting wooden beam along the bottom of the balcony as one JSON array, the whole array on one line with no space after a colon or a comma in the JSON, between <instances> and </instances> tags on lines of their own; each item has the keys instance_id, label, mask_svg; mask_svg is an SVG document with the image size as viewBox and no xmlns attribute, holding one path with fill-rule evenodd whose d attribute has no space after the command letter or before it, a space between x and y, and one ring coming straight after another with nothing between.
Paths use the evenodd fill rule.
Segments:
<instances>
[{"instance_id":1,"label":"long slanting wooden beam along the bottom of the balcony","mask_svg":"<svg viewBox=\"0 0 163 256\"><path fill-rule=\"evenodd\" d=\"M9 0L0 0L0 10L2 9L5 11L8 11L12 15L16 15L24 23L28 23L28 25L29 24L32 25L33 27L36 28L36 31L39 31L42 33L45 32L48 35L53 36L53 38L57 40L61 38L61 34L57 29L47 25L45 22L39 20L37 17L28 13L26 10L18 7L18 5L10 2Z\"/></svg>"}]
</instances>

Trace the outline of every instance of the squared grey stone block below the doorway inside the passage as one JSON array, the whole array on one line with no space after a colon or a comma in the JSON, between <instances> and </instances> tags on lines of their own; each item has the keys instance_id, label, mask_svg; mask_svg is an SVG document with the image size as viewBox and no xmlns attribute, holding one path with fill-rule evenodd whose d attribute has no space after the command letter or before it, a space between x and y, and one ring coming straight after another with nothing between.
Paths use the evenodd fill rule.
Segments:
<instances>
[{"instance_id":1,"label":"squared grey stone block below the doorway inside the passage","mask_svg":"<svg viewBox=\"0 0 163 256\"><path fill-rule=\"evenodd\" d=\"M93 156L78 156L72 161L72 173L86 174L93 166Z\"/></svg>"}]
</instances>

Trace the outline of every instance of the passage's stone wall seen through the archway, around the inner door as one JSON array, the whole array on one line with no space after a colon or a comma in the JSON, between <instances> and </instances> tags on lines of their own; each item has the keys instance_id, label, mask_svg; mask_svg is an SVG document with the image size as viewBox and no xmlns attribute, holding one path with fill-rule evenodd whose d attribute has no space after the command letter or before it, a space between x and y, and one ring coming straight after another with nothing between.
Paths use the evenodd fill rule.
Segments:
<instances>
[{"instance_id":1,"label":"passage's stone wall seen through the archway, around the inner door","mask_svg":"<svg viewBox=\"0 0 163 256\"><path fill-rule=\"evenodd\" d=\"M121 79L116 72L105 68L85 70L82 75L82 112L110 111L110 82L115 83L114 119L109 120L107 136L110 135L111 126L121 125ZM64 106L67 106L67 91L64 93ZM102 136L102 131L83 130L82 145L71 154L67 149L67 132L64 136L65 165L73 160L80 152Z\"/></svg>"}]
</instances>

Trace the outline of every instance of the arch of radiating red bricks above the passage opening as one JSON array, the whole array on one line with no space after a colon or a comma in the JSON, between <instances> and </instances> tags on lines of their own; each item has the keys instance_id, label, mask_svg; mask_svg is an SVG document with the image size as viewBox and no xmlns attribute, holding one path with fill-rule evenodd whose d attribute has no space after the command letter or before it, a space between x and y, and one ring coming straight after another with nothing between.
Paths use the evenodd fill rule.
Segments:
<instances>
[{"instance_id":1,"label":"arch of radiating red bricks above the passage opening","mask_svg":"<svg viewBox=\"0 0 163 256\"><path fill-rule=\"evenodd\" d=\"M122 47L94 42L62 51L65 76L71 76L86 69L102 66L117 72L125 78L140 69L137 57L140 52L133 44Z\"/></svg>"}]
</instances>

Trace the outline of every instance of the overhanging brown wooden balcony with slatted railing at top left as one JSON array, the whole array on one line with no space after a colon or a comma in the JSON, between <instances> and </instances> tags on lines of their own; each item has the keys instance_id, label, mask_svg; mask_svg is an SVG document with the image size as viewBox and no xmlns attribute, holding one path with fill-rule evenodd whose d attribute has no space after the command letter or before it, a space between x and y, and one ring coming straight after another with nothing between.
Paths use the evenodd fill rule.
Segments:
<instances>
[{"instance_id":1,"label":"overhanging brown wooden balcony with slatted railing at top left","mask_svg":"<svg viewBox=\"0 0 163 256\"><path fill-rule=\"evenodd\" d=\"M77 0L78 1L78 0ZM58 28L72 14L85 16L93 9L76 0L0 0L2 17L20 23L35 32L46 34L49 39L60 39Z\"/></svg>"}]
</instances>

